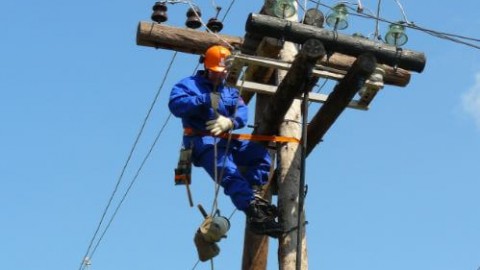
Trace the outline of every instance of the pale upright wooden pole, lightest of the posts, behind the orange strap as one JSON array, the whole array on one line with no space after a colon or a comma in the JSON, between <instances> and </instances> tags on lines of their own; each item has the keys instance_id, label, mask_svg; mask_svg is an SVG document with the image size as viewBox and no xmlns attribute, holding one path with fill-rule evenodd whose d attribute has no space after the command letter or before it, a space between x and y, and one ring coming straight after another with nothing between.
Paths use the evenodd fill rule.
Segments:
<instances>
[{"instance_id":1,"label":"pale upright wooden pole, lightest of the posts, behind the orange strap","mask_svg":"<svg viewBox=\"0 0 480 270\"><path fill-rule=\"evenodd\" d=\"M275 4L276 1L265 1L264 9L271 10L268 8L269 5ZM296 3L295 3L296 6ZM297 6L296 6L297 8ZM286 18L287 21L298 21L298 14L295 12L291 17ZM305 52L305 51L304 51ZM282 51L280 52L279 60L282 61L289 61L294 62L295 56L297 55L298 50L296 44L292 42L285 42ZM316 60L323 56L323 55L311 55L306 56L308 54L302 53L297 58L297 62L299 63L307 63L307 65L312 63L312 60L316 62ZM306 57L305 57L306 56ZM313 62L313 63L314 63ZM293 65L293 64L292 64ZM289 71L294 71L294 69L290 69ZM304 70L305 72L305 70ZM306 77L306 74L302 74L303 76L299 77ZM292 76L288 76L287 72L285 71L278 71L277 72L277 82L279 85L282 85L283 88L288 90L295 90L297 88L297 93L299 93L298 88L300 88L301 83L296 82L296 85L290 85L289 82L295 81L291 79ZM285 81L285 79L288 79ZM287 89L293 88L293 89ZM278 90L277 90L278 91ZM287 97L288 94L284 94L287 91L279 91L279 95L276 95L277 100L288 100L290 98ZM301 89L300 89L301 93ZM284 97L284 98L280 98ZM274 97L275 99L275 97ZM285 104L288 106L288 110L280 115L283 117L281 120L280 126L278 128L278 132L281 136L289 136L289 137L301 137L301 126L298 124L301 122L301 101L300 100L293 100ZM278 106L278 104L270 103L268 108L274 108ZM286 109L286 108L285 108ZM270 110L270 112L274 112L275 110ZM278 112L278 111L277 111ZM266 117L271 115L263 114ZM268 127L268 123L262 122L263 125ZM270 124L271 125L271 124ZM266 128L266 132L272 132L271 129L275 129L275 126L270 126ZM270 129L270 130L268 130ZM261 134L262 128L258 129L259 133ZM298 213L298 190L299 190L299 179L300 179L300 162L301 156L297 153L299 152L300 145L298 143L286 143L283 144L278 149L279 155L279 174L277 179L278 185L278 208L279 208L279 221L284 227L284 229L288 230L292 226L295 226L297 222L298 215L302 215L302 213ZM301 242L301 249L302 249L302 258L301 258L301 265L302 269L308 269L308 255L307 255L307 240L306 235L303 234L302 239L297 239L295 233L288 233L283 235L279 239L278 244L278 265L279 269L282 270L293 270L296 266L296 255L297 255L297 243Z\"/></svg>"}]
</instances>

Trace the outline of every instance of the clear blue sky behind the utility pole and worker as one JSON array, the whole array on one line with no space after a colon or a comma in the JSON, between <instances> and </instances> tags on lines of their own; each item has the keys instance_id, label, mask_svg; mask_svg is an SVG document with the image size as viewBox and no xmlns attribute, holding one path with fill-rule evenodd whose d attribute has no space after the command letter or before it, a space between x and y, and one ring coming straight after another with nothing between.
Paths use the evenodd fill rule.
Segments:
<instances>
[{"instance_id":1,"label":"clear blue sky behind the utility pole and worker","mask_svg":"<svg viewBox=\"0 0 480 270\"><path fill-rule=\"evenodd\" d=\"M216 2L223 12L230 4ZM377 1L362 2L376 9ZM382 2L382 17L402 18L395 1ZM172 59L171 51L135 43L137 23L149 20L153 3L4 1L2 269L78 269ZM211 1L197 3L204 19L214 15ZM243 36L247 14L262 3L237 0L223 33ZM402 4L418 25L480 37L478 1ZM168 24L182 27L186 9L169 6ZM373 21L351 17L350 24L344 33L374 31ZM386 28L380 25L382 34ZM427 55L425 71L406 88L385 87L368 112L345 112L308 159L310 269L480 267L479 50L408 34L405 47ZM177 56L112 207L168 116L171 86L192 74L197 59ZM188 206L185 189L173 185L180 136L178 119L170 119L90 269L192 269L202 218ZM200 169L192 189L195 203L209 209L214 186ZM225 215L233 210L223 194L220 208ZM215 269L240 268L243 214L232 224ZM271 241L268 269L278 269L276 249Z\"/></svg>"}]
</instances>

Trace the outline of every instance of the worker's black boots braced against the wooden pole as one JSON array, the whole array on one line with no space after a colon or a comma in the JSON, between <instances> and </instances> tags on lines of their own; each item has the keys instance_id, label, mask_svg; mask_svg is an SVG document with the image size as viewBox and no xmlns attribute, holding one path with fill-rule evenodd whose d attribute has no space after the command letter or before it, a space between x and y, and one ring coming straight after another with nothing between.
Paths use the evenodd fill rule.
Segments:
<instances>
[{"instance_id":1,"label":"worker's black boots braced against the wooden pole","mask_svg":"<svg viewBox=\"0 0 480 270\"><path fill-rule=\"evenodd\" d=\"M278 238L283 234L282 226L275 220L277 208L268 201L255 197L245 211L250 231L255 234Z\"/></svg>"}]
</instances>

